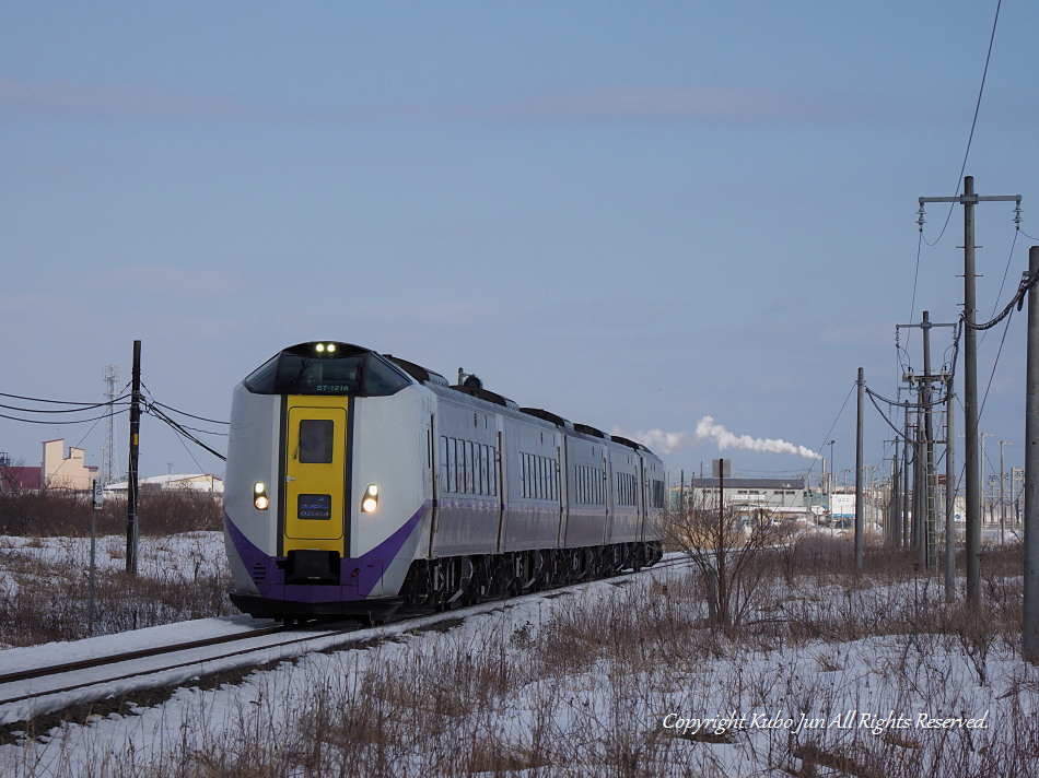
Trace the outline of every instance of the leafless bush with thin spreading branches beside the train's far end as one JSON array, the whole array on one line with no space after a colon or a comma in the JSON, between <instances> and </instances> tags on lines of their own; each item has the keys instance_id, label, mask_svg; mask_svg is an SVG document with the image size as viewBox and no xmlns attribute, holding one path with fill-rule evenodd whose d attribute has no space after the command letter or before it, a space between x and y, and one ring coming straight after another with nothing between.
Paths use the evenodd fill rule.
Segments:
<instances>
[{"instance_id":1,"label":"leafless bush with thin spreading branches beside the train's far end","mask_svg":"<svg viewBox=\"0 0 1039 778\"><path fill-rule=\"evenodd\" d=\"M768 508L737 509L703 496L662 510L661 530L665 547L682 552L700 570L711 626L724 632L746 618L767 571L764 554L799 537L795 522Z\"/></svg>"}]
</instances>

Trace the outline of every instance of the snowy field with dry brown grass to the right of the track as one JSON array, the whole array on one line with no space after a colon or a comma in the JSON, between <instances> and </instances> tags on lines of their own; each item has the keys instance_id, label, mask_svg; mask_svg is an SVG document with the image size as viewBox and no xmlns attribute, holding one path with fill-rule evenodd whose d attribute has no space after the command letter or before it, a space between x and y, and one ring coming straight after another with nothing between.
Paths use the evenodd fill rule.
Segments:
<instances>
[{"instance_id":1,"label":"snowy field with dry brown grass to the right of the track","mask_svg":"<svg viewBox=\"0 0 1039 778\"><path fill-rule=\"evenodd\" d=\"M1019 586L988 590L996 613ZM690 573L657 570L185 687L0 746L0 775L1039 775L1039 670L942 594L779 578L726 637Z\"/></svg>"}]
</instances>

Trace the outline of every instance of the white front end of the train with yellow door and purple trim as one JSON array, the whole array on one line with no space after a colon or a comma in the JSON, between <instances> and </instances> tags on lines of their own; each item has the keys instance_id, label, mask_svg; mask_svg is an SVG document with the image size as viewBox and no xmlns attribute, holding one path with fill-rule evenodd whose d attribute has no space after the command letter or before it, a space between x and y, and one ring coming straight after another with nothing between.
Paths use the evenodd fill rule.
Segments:
<instances>
[{"instance_id":1,"label":"white front end of the train with yellow door and purple trim","mask_svg":"<svg viewBox=\"0 0 1039 778\"><path fill-rule=\"evenodd\" d=\"M224 528L240 610L396 610L432 505L430 402L380 354L329 341L285 349L235 387Z\"/></svg>"}]
</instances>

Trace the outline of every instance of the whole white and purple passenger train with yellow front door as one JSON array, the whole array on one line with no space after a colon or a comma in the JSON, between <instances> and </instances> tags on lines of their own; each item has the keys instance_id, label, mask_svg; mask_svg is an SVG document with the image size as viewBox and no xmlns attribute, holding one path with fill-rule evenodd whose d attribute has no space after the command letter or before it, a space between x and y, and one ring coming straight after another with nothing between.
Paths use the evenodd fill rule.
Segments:
<instances>
[{"instance_id":1,"label":"whole white and purple passenger train with yellow front door","mask_svg":"<svg viewBox=\"0 0 1039 778\"><path fill-rule=\"evenodd\" d=\"M664 484L645 446L475 377L299 343L233 390L231 600L287 623L380 623L638 570L662 555Z\"/></svg>"}]
</instances>

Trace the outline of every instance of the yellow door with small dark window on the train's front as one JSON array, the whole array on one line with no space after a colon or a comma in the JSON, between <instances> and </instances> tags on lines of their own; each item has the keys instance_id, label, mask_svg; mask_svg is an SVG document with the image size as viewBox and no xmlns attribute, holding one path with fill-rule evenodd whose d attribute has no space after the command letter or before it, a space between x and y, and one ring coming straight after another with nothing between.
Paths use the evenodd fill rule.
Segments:
<instances>
[{"instance_id":1,"label":"yellow door with small dark window on the train's front","mask_svg":"<svg viewBox=\"0 0 1039 778\"><path fill-rule=\"evenodd\" d=\"M285 431L284 551L320 549L343 555L347 410L289 398ZM316 402L315 402L316 400ZM341 402L341 400L340 400Z\"/></svg>"}]
</instances>

